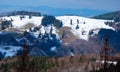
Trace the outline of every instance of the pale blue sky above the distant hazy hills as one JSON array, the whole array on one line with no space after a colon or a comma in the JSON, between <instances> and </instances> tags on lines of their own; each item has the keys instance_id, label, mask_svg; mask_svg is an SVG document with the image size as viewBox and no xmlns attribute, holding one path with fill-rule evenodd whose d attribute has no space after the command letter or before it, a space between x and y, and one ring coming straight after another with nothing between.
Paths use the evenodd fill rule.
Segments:
<instances>
[{"instance_id":1,"label":"pale blue sky above the distant hazy hills","mask_svg":"<svg viewBox=\"0 0 120 72\"><path fill-rule=\"evenodd\" d=\"M120 10L120 0L0 0L0 5L50 6L56 8Z\"/></svg>"}]
</instances>

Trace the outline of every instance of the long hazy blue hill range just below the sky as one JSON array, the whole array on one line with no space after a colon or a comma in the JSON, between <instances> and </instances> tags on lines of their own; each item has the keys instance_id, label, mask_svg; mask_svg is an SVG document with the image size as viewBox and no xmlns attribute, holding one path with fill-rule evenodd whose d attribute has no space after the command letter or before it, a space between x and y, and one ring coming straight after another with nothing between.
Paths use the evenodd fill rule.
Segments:
<instances>
[{"instance_id":1,"label":"long hazy blue hill range just below the sky","mask_svg":"<svg viewBox=\"0 0 120 72\"><path fill-rule=\"evenodd\" d=\"M0 5L0 13L10 12L10 11L37 11L42 15L54 15L54 16L63 16L63 15L78 15L84 17L91 17L99 14L104 14L110 11L106 10L94 10L94 9L68 9L68 8L53 8L48 6L13 6L13 5Z\"/></svg>"}]
</instances>

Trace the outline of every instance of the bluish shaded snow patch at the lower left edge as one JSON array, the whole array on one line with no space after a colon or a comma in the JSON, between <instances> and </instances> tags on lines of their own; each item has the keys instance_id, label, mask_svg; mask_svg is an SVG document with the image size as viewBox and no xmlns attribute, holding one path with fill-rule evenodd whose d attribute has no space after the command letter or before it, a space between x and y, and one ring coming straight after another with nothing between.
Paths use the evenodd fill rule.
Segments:
<instances>
[{"instance_id":1,"label":"bluish shaded snow patch at the lower left edge","mask_svg":"<svg viewBox=\"0 0 120 72\"><path fill-rule=\"evenodd\" d=\"M12 57L14 56L18 50L22 49L19 46L12 46L12 45L0 45L0 52L2 54L5 53L5 57Z\"/></svg>"}]
</instances>

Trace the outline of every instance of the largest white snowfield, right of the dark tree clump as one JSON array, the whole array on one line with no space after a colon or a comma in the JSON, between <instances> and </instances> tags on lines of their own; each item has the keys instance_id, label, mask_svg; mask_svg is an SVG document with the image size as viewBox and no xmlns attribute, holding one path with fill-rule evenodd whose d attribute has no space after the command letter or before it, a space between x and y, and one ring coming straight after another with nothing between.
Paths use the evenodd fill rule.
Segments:
<instances>
[{"instance_id":1,"label":"largest white snowfield, right of the dark tree clump","mask_svg":"<svg viewBox=\"0 0 120 72\"><path fill-rule=\"evenodd\" d=\"M72 32L84 40L88 40L89 32L91 30L96 30L95 34L97 34L101 28L114 30L112 27L105 25L104 23L111 22L112 20L90 19L79 16L59 16L57 19L61 20L64 26L71 27ZM72 25L70 24L70 20L72 20ZM77 23L77 20L79 20L79 23ZM79 29L76 29L77 24L80 27ZM84 33L82 34L82 32Z\"/></svg>"}]
</instances>

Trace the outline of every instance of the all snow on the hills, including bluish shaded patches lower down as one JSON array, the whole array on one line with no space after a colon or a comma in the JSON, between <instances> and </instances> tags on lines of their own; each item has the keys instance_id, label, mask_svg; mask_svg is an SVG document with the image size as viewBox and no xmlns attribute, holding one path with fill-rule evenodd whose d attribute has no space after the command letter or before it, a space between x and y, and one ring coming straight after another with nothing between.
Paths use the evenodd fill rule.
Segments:
<instances>
[{"instance_id":1,"label":"all snow on the hills, including bluish shaded patches lower down","mask_svg":"<svg viewBox=\"0 0 120 72\"><path fill-rule=\"evenodd\" d=\"M32 18L29 19L29 16L26 15L25 18L21 20L20 15L17 15L17 16L10 16L10 17L2 17L2 20L12 19L13 28L22 28L24 25L28 23L33 23L35 26L40 26L42 18L43 18L42 16L41 17L32 16ZM63 26L70 27L71 32L74 35L76 35L76 37L84 40L88 40L89 32L91 30L93 30L93 35L98 34L101 28L114 30L114 28L105 24L105 22L112 22L112 20L91 19L91 18L85 18L80 16L57 16L56 19L61 20L63 22ZM72 20L72 25L71 25L71 20ZM77 20L79 20L79 23ZM79 26L78 29L76 29L77 25ZM44 34L45 31L49 33L50 29L51 29L51 26L49 27L41 26L40 31L42 34ZM39 33L40 32L38 31L34 34L36 37L38 37ZM59 35L57 34L57 29L55 27L53 27L52 33L56 34L57 38L59 38ZM8 47L9 49L5 49L6 47ZM21 49L21 47L10 46L10 45L5 45L5 46L0 45L0 52L6 53L5 57L14 56L17 53L17 50L19 49ZM56 47L51 48L51 51L55 51L55 50L56 50ZM41 52L47 56L47 54L43 50L41 50ZM71 52L70 54L74 56L74 53Z\"/></svg>"}]
</instances>

